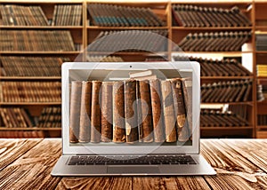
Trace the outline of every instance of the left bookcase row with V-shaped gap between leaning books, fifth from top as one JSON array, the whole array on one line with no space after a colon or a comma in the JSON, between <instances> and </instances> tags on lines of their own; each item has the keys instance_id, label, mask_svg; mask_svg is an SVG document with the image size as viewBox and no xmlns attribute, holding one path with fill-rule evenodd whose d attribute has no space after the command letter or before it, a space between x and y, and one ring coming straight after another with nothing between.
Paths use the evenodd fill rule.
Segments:
<instances>
[{"instance_id":1,"label":"left bookcase row with V-shaped gap between leaning books, fifth from top","mask_svg":"<svg viewBox=\"0 0 267 190\"><path fill-rule=\"evenodd\" d=\"M38 117L30 115L27 108L1 107L0 118L5 128L60 128L61 107L44 107Z\"/></svg>"}]
</instances>

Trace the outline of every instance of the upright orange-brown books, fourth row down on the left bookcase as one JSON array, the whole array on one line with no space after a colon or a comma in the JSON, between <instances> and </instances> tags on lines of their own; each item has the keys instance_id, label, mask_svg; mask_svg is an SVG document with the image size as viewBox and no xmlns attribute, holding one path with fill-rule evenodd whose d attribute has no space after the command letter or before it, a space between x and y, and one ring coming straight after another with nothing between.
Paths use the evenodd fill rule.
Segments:
<instances>
[{"instance_id":1,"label":"upright orange-brown books, fourth row down on the left bookcase","mask_svg":"<svg viewBox=\"0 0 267 190\"><path fill-rule=\"evenodd\" d=\"M61 102L61 82L0 82L0 102Z\"/></svg>"}]
</instances>

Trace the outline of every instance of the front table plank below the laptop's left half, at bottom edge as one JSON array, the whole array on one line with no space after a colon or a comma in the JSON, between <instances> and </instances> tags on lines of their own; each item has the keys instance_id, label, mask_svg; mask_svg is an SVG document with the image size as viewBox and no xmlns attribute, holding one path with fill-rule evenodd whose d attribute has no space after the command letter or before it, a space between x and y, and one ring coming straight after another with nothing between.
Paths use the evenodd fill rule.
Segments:
<instances>
[{"instance_id":1,"label":"front table plank below the laptop's left half, at bottom edge","mask_svg":"<svg viewBox=\"0 0 267 190\"><path fill-rule=\"evenodd\" d=\"M132 189L132 178L62 178L56 189Z\"/></svg>"}]
</instances>

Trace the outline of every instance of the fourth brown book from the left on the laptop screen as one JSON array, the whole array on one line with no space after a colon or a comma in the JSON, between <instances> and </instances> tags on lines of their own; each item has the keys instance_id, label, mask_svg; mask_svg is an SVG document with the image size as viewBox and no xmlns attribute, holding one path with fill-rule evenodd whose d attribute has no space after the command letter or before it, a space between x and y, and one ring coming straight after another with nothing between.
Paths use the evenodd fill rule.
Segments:
<instances>
[{"instance_id":1,"label":"fourth brown book from the left on the laptop screen","mask_svg":"<svg viewBox=\"0 0 267 190\"><path fill-rule=\"evenodd\" d=\"M112 82L102 82L101 86L101 141L112 141Z\"/></svg>"}]
</instances>

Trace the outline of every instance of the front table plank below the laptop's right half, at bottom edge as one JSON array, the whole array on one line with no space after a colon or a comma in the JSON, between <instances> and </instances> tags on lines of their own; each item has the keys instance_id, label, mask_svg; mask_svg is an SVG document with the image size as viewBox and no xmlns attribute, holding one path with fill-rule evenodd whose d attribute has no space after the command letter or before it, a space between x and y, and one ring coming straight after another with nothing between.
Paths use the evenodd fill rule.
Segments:
<instances>
[{"instance_id":1,"label":"front table plank below the laptop's right half, at bottom edge","mask_svg":"<svg viewBox=\"0 0 267 190\"><path fill-rule=\"evenodd\" d=\"M210 189L202 177L133 178L133 189Z\"/></svg>"}]
</instances>

